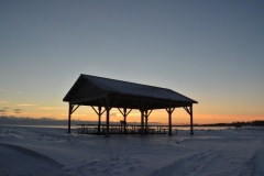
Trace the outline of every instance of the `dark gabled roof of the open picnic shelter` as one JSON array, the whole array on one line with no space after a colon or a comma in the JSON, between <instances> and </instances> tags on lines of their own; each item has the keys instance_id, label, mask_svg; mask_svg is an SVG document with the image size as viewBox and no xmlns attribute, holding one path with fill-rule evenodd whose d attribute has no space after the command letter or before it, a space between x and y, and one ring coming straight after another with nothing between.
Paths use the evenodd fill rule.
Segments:
<instances>
[{"instance_id":1,"label":"dark gabled roof of the open picnic shelter","mask_svg":"<svg viewBox=\"0 0 264 176\"><path fill-rule=\"evenodd\" d=\"M73 103L78 102L80 105L90 105L89 101L105 98L109 95L121 96L124 99L125 97L140 97L141 99L166 100L169 102L198 103L197 101L167 88L84 74L79 76L63 100Z\"/></svg>"}]
</instances>

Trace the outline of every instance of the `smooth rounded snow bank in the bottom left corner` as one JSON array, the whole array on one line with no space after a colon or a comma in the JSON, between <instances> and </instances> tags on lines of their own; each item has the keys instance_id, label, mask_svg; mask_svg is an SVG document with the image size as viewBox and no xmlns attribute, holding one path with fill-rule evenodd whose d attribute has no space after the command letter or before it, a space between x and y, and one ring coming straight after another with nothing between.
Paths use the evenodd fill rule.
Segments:
<instances>
[{"instance_id":1,"label":"smooth rounded snow bank in the bottom left corner","mask_svg":"<svg viewBox=\"0 0 264 176\"><path fill-rule=\"evenodd\" d=\"M12 144L0 143L1 175L58 175L62 165L51 157Z\"/></svg>"}]
</instances>

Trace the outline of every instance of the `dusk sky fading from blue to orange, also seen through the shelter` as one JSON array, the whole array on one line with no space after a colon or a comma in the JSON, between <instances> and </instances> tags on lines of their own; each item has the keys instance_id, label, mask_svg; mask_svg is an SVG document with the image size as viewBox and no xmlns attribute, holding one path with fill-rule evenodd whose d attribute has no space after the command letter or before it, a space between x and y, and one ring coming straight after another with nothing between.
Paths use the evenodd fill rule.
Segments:
<instances>
[{"instance_id":1,"label":"dusk sky fading from blue to orange, also seen through the shelter","mask_svg":"<svg viewBox=\"0 0 264 176\"><path fill-rule=\"evenodd\" d=\"M183 94L199 102L195 123L264 120L263 19L262 0L1 0L1 116L67 119L63 98L86 74ZM186 122L177 108L173 123Z\"/></svg>"}]
</instances>

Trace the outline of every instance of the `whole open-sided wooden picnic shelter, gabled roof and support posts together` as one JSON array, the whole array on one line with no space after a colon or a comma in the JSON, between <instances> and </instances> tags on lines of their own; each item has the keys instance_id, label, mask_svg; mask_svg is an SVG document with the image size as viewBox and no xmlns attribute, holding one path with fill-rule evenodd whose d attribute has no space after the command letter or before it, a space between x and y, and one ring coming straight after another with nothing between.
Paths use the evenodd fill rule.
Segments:
<instances>
[{"instance_id":1,"label":"whole open-sided wooden picnic shelter, gabled roof and support posts together","mask_svg":"<svg viewBox=\"0 0 264 176\"><path fill-rule=\"evenodd\" d=\"M69 103L68 132L70 133L72 114L79 106L90 106L98 114L98 134L101 133L101 116L106 112L106 136L109 136L110 110L118 108L123 116L123 128L132 109L141 112L141 134L145 134L147 120L155 109L165 109L168 113L168 135L172 135L172 114L176 108L184 108L190 116L190 134L193 129L193 103L197 101L176 91L147 85L96 77L81 74L65 96L63 101ZM103 109L103 110L102 110Z\"/></svg>"}]
</instances>

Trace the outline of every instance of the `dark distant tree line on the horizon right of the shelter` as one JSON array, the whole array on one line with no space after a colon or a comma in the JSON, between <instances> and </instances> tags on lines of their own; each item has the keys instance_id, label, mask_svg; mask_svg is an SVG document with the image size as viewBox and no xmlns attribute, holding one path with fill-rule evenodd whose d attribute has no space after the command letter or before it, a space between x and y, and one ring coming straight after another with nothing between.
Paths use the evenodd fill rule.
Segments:
<instances>
[{"instance_id":1,"label":"dark distant tree line on the horizon right of the shelter","mask_svg":"<svg viewBox=\"0 0 264 176\"><path fill-rule=\"evenodd\" d=\"M249 127L264 127L264 121L263 120L254 120L251 122L232 122L232 123L210 123L210 124L199 124L202 127L237 127L241 128L244 125Z\"/></svg>"}]
</instances>

